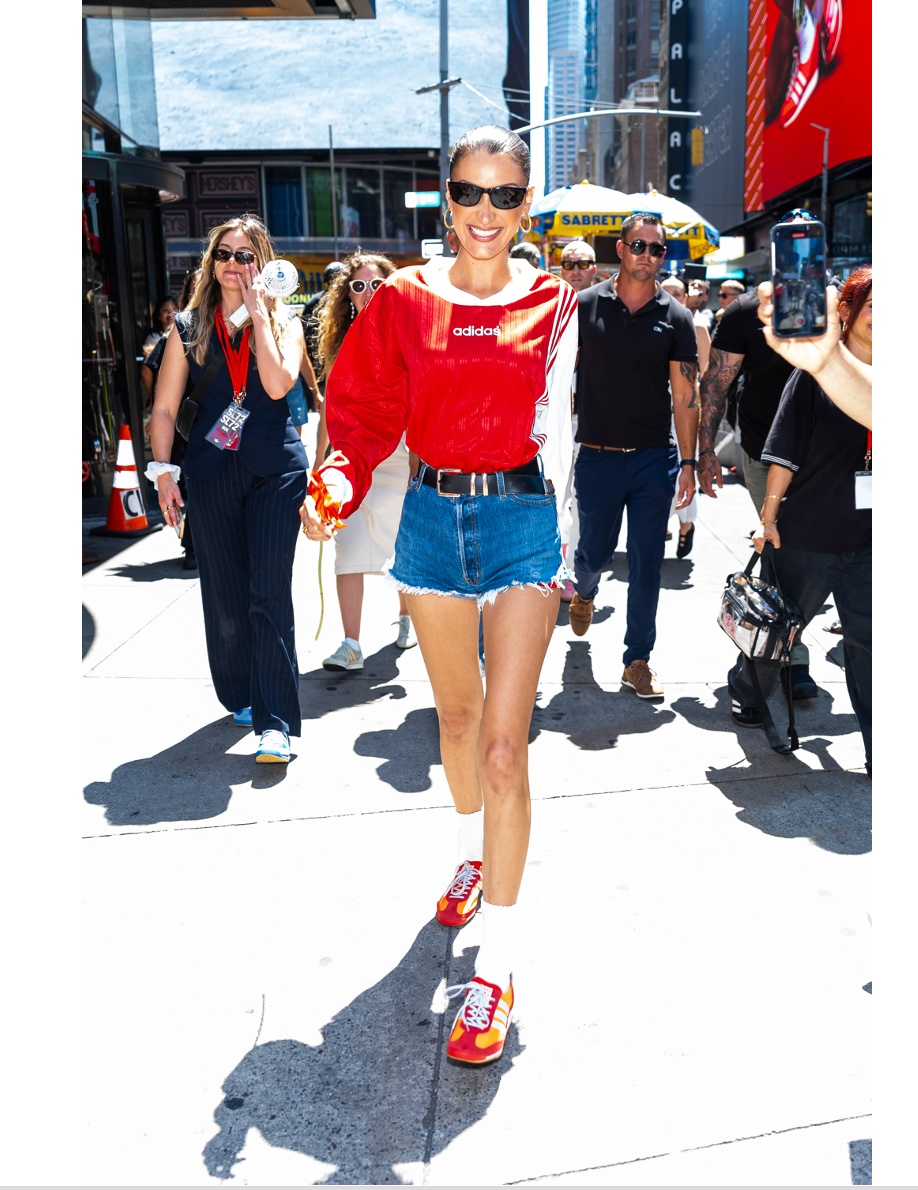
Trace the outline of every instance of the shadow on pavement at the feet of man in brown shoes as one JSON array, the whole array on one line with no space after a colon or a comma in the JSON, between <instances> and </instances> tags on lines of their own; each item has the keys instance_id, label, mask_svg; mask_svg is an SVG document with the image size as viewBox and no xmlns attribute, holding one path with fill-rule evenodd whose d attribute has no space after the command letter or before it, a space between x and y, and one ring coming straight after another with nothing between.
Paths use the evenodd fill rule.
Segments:
<instances>
[{"instance_id":1,"label":"shadow on pavement at the feet of man in brown shoes","mask_svg":"<svg viewBox=\"0 0 918 1190\"><path fill-rule=\"evenodd\" d=\"M619 735L636 735L672 724L672 710L657 710L631 690L608 691L593 677L589 641L568 644L560 694L544 707L536 706L529 731L530 744L541 732L561 732L588 752L614 747Z\"/></svg>"}]
</instances>

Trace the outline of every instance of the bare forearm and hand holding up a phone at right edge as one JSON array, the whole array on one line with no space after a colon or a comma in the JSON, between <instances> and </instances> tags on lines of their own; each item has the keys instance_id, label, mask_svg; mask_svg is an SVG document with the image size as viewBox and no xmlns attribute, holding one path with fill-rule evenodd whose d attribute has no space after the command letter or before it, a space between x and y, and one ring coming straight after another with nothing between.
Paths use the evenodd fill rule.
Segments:
<instances>
[{"instance_id":1,"label":"bare forearm and hand holding up a phone at right edge","mask_svg":"<svg viewBox=\"0 0 918 1190\"><path fill-rule=\"evenodd\" d=\"M835 286L826 288L825 305L825 334L813 339L779 339L772 330L772 282L763 281L758 287L758 318L764 322L766 343L794 368L810 372L842 413L873 430L873 371L842 343Z\"/></svg>"}]
</instances>

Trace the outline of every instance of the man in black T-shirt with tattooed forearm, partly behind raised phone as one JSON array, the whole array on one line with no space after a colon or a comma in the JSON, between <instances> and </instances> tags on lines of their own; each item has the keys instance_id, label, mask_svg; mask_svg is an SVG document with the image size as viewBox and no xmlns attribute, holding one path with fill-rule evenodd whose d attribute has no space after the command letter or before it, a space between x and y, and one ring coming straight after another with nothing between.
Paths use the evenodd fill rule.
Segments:
<instances>
[{"instance_id":1,"label":"man in black T-shirt with tattooed forearm, partly behind raised phone","mask_svg":"<svg viewBox=\"0 0 918 1190\"><path fill-rule=\"evenodd\" d=\"M807 215L807 218L812 218ZM788 212L781 223L803 221ZM711 339L711 356L701 377L701 421L698 433L698 486L717 499L714 484L723 488L720 463L714 455L714 437L726 409L730 386L743 369L743 396L737 424L747 490L756 516L764 503L768 463L762 450L772 428L781 394L793 368L766 343L758 319L758 294L742 294L724 309ZM791 651L791 682L794 699L816 699L819 688L810 676L810 651L798 641Z\"/></svg>"}]
</instances>

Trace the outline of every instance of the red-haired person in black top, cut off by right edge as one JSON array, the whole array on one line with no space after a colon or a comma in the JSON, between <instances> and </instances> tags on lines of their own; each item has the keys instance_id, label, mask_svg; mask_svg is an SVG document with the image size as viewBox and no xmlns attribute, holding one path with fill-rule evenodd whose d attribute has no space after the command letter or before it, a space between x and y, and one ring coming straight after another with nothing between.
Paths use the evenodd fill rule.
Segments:
<instances>
[{"instance_id":1,"label":"red-haired person in black top, cut off by right edge","mask_svg":"<svg viewBox=\"0 0 918 1190\"><path fill-rule=\"evenodd\" d=\"M838 300L842 342L862 368L873 365L873 268L855 269ZM813 376L787 382L762 458L768 483L755 547L770 543L770 566L782 594L808 624L831 597L842 621L844 677L872 765L873 516L870 433L825 395ZM761 666L767 699L779 663ZM727 675L733 722L761 727L749 660L739 654Z\"/></svg>"}]
</instances>

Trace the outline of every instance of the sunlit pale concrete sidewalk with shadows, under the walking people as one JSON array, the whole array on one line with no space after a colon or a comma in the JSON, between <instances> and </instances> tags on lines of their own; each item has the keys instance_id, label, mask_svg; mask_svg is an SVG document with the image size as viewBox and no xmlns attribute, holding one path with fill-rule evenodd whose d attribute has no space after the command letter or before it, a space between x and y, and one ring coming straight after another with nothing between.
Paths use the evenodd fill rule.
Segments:
<instances>
[{"instance_id":1,"label":"sunlit pale concrete sidewalk with shadows, under the walking people","mask_svg":"<svg viewBox=\"0 0 918 1190\"><path fill-rule=\"evenodd\" d=\"M300 539L304 734L274 768L214 697L174 534L86 575L87 1183L869 1180L870 784L835 613L778 757L730 720L714 624L752 507L738 484L700 506L692 556L663 564L662 703L619 685L624 557L587 637L562 607L519 1017L485 1071L444 1057L477 923L433 920L455 813L394 593L367 581L366 669L327 674L332 551L316 643Z\"/></svg>"}]
</instances>

